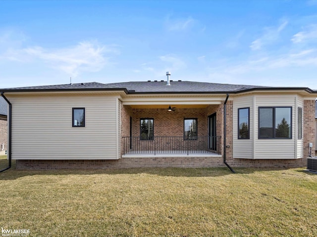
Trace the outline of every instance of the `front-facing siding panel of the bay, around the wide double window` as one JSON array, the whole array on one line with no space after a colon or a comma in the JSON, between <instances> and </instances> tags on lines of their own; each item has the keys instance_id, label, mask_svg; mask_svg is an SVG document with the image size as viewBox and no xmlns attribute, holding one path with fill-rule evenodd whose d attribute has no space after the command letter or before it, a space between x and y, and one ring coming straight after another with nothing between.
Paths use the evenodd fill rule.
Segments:
<instances>
[{"instance_id":1,"label":"front-facing siding panel of the bay, around the wide double window","mask_svg":"<svg viewBox=\"0 0 317 237\"><path fill-rule=\"evenodd\" d=\"M256 96L255 108L255 158L257 159L294 159L295 157L295 96L269 95ZM259 139L259 107L292 107L292 139ZM296 131L297 132L297 131Z\"/></svg>"}]
</instances>

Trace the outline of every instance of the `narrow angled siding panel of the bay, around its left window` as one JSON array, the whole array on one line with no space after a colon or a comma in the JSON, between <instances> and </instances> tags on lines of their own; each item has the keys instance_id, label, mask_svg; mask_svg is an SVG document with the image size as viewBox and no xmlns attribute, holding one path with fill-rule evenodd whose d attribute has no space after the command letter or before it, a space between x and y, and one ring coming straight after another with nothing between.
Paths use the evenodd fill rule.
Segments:
<instances>
[{"instance_id":1,"label":"narrow angled siding panel of the bay, around its left window","mask_svg":"<svg viewBox=\"0 0 317 237\"><path fill-rule=\"evenodd\" d=\"M241 96L233 101L233 158L253 158L253 97ZM250 108L250 139L238 139L238 109Z\"/></svg>"}]
</instances>

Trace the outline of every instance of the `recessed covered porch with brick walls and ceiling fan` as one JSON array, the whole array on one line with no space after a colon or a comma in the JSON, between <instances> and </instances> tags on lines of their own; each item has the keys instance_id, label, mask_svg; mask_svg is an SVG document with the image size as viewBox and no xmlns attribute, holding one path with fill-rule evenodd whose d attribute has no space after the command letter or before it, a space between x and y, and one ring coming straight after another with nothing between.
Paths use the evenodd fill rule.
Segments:
<instances>
[{"instance_id":1,"label":"recessed covered porch with brick walls and ceiling fan","mask_svg":"<svg viewBox=\"0 0 317 237\"><path fill-rule=\"evenodd\" d=\"M225 97L134 97L121 105L121 157L222 157Z\"/></svg>"}]
</instances>

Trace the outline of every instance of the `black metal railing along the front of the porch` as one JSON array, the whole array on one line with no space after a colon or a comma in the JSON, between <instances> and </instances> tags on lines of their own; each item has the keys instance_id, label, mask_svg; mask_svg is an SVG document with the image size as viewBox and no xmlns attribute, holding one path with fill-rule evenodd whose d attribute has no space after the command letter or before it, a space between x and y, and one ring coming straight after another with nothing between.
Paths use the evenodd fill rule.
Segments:
<instances>
[{"instance_id":1,"label":"black metal railing along the front of the porch","mask_svg":"<svg viewBox=\"0 0 317 237\"><path fill-rule=\"evenodd\" d=\"M122 137L124 154L220 154L220 136L187 137Z\"/></svg>"}]
</instances>

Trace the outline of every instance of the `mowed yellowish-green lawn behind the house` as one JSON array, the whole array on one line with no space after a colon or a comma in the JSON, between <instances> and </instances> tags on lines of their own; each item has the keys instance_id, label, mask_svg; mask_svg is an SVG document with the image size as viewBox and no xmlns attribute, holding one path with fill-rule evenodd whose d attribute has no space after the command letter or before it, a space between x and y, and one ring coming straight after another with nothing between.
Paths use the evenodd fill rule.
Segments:
<instances>
[{"instance_id":1,"label":"mowed yellowish-green lawn behind the house","mask_svg":"<svg viewBox=\"0 0 317 237\"><path fill-rule=\"evenodd\" d=\"M30 236L317 236L317 175L148 168L0 173L3 229Z\"/></svg>"}]
</instances>

